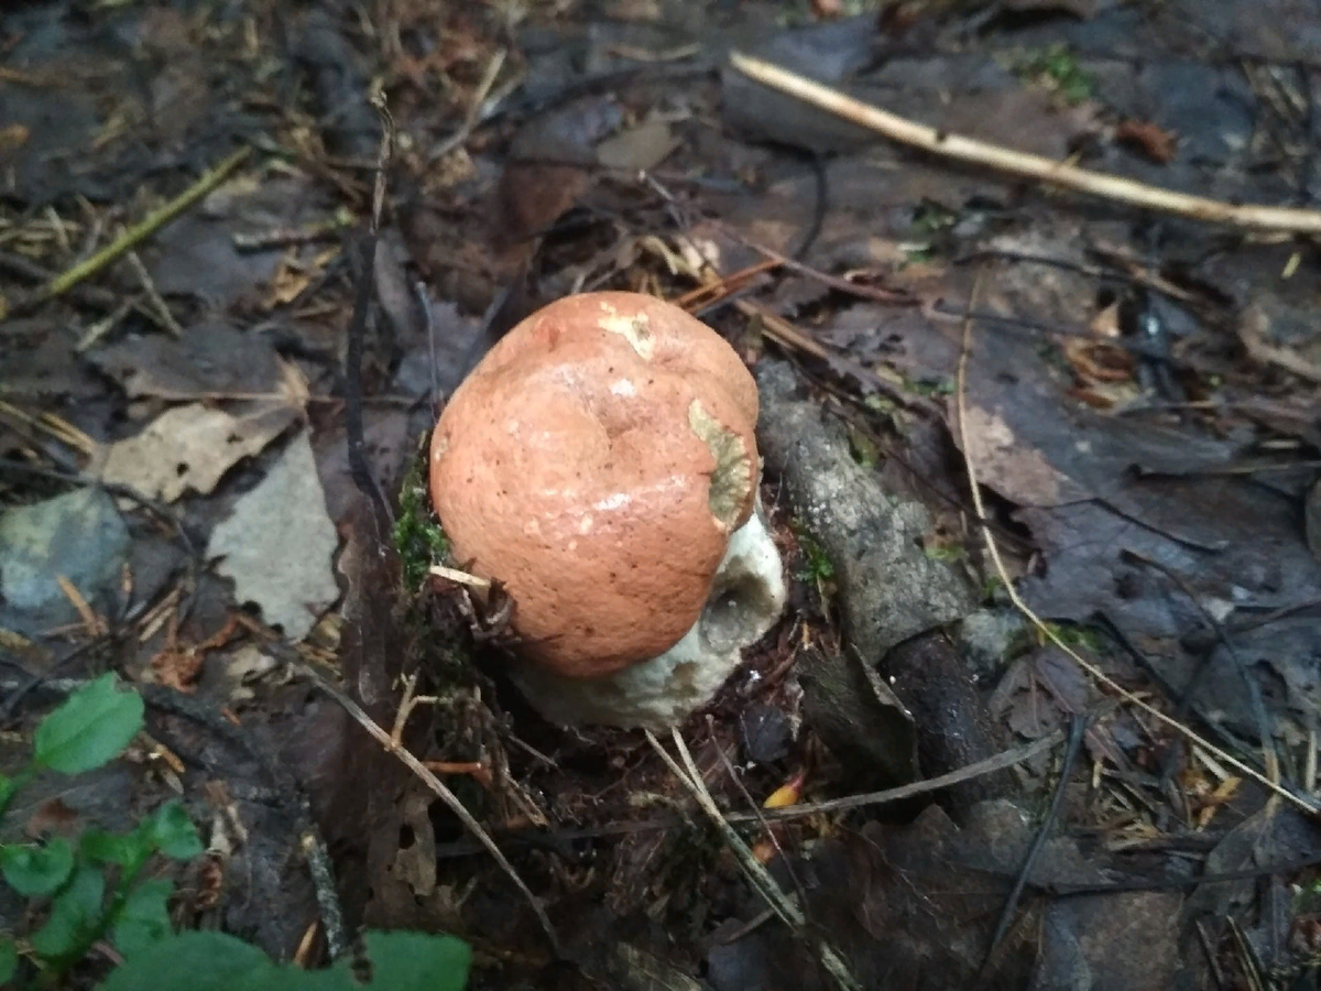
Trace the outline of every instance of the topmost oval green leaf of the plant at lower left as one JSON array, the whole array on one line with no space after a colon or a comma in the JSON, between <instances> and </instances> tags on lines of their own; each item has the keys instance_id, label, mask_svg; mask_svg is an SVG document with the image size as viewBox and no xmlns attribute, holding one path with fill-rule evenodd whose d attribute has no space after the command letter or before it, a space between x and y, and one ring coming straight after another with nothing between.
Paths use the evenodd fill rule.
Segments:
<instances>
[{"instance_id":1,"label":"topmost oval green leaf of the plant at lower left","mask_svg":"<svg viewBox=\"0 0 1321 991\"><path fill-rule=\"evenodd\" d=\"M103 674L75 691L41 720L32 737L33 761L62 774L108 764L143 728L143 699L120 691L114 674Z\"/></svg>"}]
</instances>

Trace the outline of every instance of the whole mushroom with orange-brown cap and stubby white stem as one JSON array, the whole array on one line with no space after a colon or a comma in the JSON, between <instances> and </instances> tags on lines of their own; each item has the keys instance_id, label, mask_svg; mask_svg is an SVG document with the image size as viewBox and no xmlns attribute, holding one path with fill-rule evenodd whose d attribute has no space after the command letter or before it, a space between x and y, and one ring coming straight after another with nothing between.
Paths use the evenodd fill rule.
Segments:
<instances>
[{"instance_id":1,"label":"whole mushroom with orange-brown cap and stubby white stem","mask_svg":"<svg viewBox=\"0 0 1321 991\"><path fill-rule=\"evenodd\" d=\"M510 674L547 719L672 725L774 625L756 422L734 350L631 292L544 307L454 391L432 502L456 562L513 597Z\"/></svg>"}]
</instances>

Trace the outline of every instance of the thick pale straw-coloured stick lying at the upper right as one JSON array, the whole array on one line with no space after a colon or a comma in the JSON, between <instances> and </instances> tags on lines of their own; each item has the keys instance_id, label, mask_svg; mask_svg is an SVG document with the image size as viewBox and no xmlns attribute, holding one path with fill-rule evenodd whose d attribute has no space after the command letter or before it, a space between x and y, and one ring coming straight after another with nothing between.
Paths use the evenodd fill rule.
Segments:
<instances>
[{"instance_id":1,"label":"thick pale straw-coloured stick lying at the upper right","mask_svg":"<svg viewBox=\"0 0 1321 991\"><path fill-rule=\"evenodd\" d=\"M1321 234L1321 211L1317 210L1299 210L1287 206L1236 206L1221 200L1149 186L1122 176L1079 169L1075 165L1045 159L1040 155L1028 155L972 137L946 133L926 124L915 124L798 73L738 52L729 53L729 62L740 73L765 86L797 96L804 103L811 103L894 141L921 148L933 155L984 165L1013 176L1024 176L1079 193L1106 197L1131 206L1188 217L1194 221L1226 223L1251 230Z\"/></svg>"}]
</instances>

